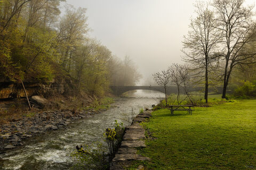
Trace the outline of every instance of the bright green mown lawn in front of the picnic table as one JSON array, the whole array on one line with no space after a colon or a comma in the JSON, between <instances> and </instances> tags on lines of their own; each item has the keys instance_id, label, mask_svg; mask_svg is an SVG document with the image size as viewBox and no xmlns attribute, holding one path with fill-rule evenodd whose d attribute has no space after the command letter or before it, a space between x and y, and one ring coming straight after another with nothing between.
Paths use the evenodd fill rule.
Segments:
<instances>
[{"instance_id":1,"label":"bright green mown lawn in front of the picnic table","mask_svg":"<svg viewBox=\"0 0 256 170\"><path fill-rule=\"evenodd\" d=\"M195 107L170 115L153 112L143 123L150 131L147 169L256 169L256 100L239 100L212 107Z\"/></svg>"}]
</instances>

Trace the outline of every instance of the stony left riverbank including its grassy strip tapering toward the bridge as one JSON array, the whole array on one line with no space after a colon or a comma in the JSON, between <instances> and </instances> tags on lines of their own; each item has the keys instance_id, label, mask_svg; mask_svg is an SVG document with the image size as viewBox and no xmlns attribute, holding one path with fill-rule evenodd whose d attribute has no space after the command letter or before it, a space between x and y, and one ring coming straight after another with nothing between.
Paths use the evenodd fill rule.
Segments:
<instances>
[{"instance_id":1,"label":"stony left riverbank including its grassy strip tapering toward the bridge","mask_svg":"<svg viewBox=\"0 0 256 170\"><path fill-rule=\"evenodd\" d=\"M24 100L23 106L21 104L20 107L25 107ZM62 102L65 103L63 100ZM27 138L44 134L46 131L66 128L68 124L76 120L106 111L113 102L114 100L111 98L104 98L101 102L94 100L89 106L78 107L77 105L81 101L77 101L75 106L69 107L70 104L73 104L71 102L67 105L69 108L55 111L44 111L47 109L42 111L42 109L33 108L31 111L19 110L16 113L9 112L11 105L6 111L6 116L1 115L3 118L0 122L0 152L24 145Z\"/></svg>"}]
</instances>

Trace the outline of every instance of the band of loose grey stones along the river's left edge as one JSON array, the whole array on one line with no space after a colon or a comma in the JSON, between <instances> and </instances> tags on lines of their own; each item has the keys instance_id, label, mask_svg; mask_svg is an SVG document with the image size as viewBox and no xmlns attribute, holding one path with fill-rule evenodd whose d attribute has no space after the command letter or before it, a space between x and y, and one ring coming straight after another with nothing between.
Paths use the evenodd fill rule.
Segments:
<instances>
[{"instance_id":1,"label":"band of loose grey stones along the river's left edge","mask_svg":"<svg viewBox=\"0 0 256 170\"><path fill-rule=\"evenodd\" d=\"M81 112L71 110L42 112L23 115L19 119L0 125L0 152L25 144L25 140L49 130L66 128L68 124L86 116L99 114L105 110L87 109Z\"/></svg>"}]
</instances>

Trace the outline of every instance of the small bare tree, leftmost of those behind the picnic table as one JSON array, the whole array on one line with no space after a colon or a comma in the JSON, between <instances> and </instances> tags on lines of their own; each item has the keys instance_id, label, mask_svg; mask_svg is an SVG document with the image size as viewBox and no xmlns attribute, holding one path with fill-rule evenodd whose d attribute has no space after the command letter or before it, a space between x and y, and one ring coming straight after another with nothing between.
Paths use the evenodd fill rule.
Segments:
<instances>
[{"instance_id":1,"label":"small bare tree, leftmost of those behind the picnic table","mask_svg":"<svg viewBox=\"0 0 256 170\"><path fill-rule=\"evenodd\" d=\"M160 73L155 73L153 74L154 80L159 86L164 87L164 94L165 94L165 106L167 107L167 85L170 81L170 70L168 69L167 71L163 70Z\"/></svg>"}]
</instances>

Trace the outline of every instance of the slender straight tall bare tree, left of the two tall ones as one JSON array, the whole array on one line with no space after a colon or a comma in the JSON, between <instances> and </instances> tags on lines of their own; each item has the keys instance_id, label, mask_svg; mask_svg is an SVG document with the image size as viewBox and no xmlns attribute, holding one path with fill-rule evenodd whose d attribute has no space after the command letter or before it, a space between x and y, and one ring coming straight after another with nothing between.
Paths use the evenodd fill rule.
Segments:
<instances>
[{"instance_id":1,"label":"slender straight tall bare tree, left of the two tall ones","mask_svg":"<svg viewBox=\"0 0 256 170\"><path fill-rule=\"evenodd\" d=\"M186 62L197 66L199 72L204 71L205 103L208 102L209 72L210 66L215 62L213 53L221 38L221 31L216 29L214 12L209 9L209 4L197 3L195 5L197 17L191 19L190 31L184 36L182 52L186 55L183 58Z\"/></svg>"}]
</instances>

